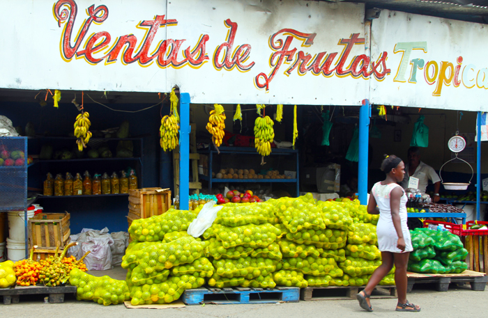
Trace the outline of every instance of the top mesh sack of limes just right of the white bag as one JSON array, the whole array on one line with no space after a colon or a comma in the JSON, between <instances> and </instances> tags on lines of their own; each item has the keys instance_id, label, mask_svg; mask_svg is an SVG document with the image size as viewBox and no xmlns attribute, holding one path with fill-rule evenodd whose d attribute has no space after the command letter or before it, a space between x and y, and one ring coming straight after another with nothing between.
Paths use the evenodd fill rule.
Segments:
<instances>
[{"instance_id":1,"label":"top mesh sack of limes just right of the white bag","mask_svg":"<svg viewBox=\"0 0 488 318\"><path fill-rule=\"evenodd\" d=\"M229 227L275 223L275 207L267 202L227 203L217 213L215 224Z\"/></svg>"}]
</instances>

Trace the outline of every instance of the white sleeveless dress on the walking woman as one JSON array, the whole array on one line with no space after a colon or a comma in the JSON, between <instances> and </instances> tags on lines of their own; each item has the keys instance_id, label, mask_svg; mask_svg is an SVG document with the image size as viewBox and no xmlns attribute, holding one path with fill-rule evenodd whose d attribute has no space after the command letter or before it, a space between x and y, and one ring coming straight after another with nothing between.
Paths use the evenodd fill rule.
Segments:
<instances>
[{"instance_id":1,"label":"white sleeveless dress on the walking woman","mask_svg":"<svg viewBox=\"0 0 488 318\"><path fill-rule=\"evenodd\" d=\"M376 234L378 235L378 248L381 252L391 252L391 253L402 253L399 248L397 248L398 235L393 225L393 220L391 218L390 209L390 193L399 184L390 183L382 185L381 182L374 184L371 190L376 204L379 207L379 221L376 225ZM400 188L402 188L400 186ZM403 191L403 189L402 189ZM405 252L413 251L412 240L410 237L409 228L406 225L407 212L406 212L406 202L407 202L405 191L402 198L400 199L400 211L399 216L402 223L402 232L405 240Z\"/></svg>"}]
</instances>

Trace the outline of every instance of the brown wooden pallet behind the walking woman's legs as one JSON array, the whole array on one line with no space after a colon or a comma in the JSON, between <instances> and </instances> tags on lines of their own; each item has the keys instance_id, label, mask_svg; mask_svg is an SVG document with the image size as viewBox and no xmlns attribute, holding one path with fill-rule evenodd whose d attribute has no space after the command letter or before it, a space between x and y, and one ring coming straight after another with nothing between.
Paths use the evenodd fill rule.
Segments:
<instances>
[{"instance_id":1,"label":"brown wooden pallet behind the walking woman's legs","mask_svg":"<svg viewBox=\"0 0 488 318\"><path fill-rule=\"evenodd\" d=\"M305 287L300 290L302 301L344 301L356 299L356 294L365 286L329 286ZM372 299L397 298L397 287L390 285L376 286L371 294Z\"/></svg>"}]
</instances>

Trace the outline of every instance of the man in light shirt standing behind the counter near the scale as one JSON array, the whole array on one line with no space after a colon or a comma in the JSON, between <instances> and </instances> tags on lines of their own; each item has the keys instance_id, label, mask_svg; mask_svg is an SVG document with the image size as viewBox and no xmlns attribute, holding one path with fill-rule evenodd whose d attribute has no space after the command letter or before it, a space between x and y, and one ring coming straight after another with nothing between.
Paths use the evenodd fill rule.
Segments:
<instances>
[{"instance_id":1,"label":"man in light shirt standing behind the counter near the scale","mask_svg":"<svg viewBox=\"0 0 488 318\"><path fill-rule=\"evenodd\" d=\"M408 188L410 176L418 179L418 189L425 193L429 180L434 184L434 195L432 197L433 202L439 202L441 198L439 196L439 189L441 189L441 179L437 175L434 168L427 166L420 161L420 149L418 147L409 148L408 152L409 164L405 166L405 176L400 185L403 189Z\"/></svg>"}]
</instances>

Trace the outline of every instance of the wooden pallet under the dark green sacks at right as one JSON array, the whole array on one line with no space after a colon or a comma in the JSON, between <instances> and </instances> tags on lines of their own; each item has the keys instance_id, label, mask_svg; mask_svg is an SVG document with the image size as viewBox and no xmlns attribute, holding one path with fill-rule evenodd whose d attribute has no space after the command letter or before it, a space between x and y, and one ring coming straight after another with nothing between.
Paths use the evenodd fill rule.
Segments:
<instances>
[{"instance_id":1,"label":"wooden pallet under the dark green sacks at right","mask_svg":"<svg viewBox=\"0 0 488 318\"><path fill-rule=\"evenodd\" d=\"M488 276L485 273L479 273L477 271L464 271L459 274L422 274L422 273L406 273L408 278L408 285L406 286L406 292L412 292L413 285L415 284L436 284L438 292L447 292L450 283L470 283L471 290L483 291L488 283Z\"/></svg>"}]
</instances>

